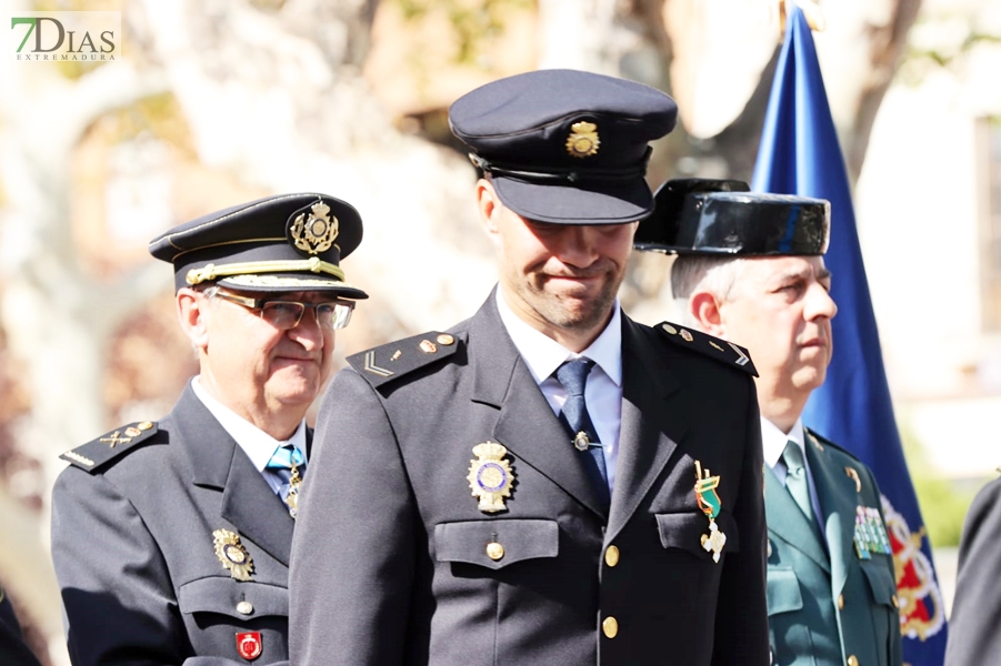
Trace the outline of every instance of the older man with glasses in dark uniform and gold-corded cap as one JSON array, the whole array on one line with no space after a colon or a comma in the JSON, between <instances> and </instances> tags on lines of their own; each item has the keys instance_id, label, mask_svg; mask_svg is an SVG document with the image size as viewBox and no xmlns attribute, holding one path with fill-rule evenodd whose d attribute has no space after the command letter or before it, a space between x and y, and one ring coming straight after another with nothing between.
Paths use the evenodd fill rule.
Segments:
<instances>
[{"instance_id":1,"label":"older man with glasses in dark uniform and gold-corded cap","mask_svg":"<svg viewBox=\"0 0 1001 666\"><path fill-rule=\"evenodd\" d=\"M161 422L63 455L52 558L76 666L288 659L288 563L307 408L364 292L339 261L361 219L326 194L270 196L150 243L176 272L199 360Z\"/></svg>"}]
</instances>

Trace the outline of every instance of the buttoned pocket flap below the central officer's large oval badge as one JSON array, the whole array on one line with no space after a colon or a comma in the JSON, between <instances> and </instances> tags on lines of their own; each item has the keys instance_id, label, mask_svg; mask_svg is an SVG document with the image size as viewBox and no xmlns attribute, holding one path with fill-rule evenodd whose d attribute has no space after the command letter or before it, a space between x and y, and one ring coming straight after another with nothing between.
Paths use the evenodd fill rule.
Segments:
<instances>
[{"instance_id":1,"label":"buttoned pocket flap below the central officer's large oval badge","mask_svg":"<svg viewBox=\"0 0 1001 666\"><path fill-rule=\"evenodd\" d=\"M500 548L488 544L500 544ZM555 557L560 526L555 521L511 518L441 523L434 526L438 562L466 562L499 569L515 562Z\"/></svg>"}]
</instances>

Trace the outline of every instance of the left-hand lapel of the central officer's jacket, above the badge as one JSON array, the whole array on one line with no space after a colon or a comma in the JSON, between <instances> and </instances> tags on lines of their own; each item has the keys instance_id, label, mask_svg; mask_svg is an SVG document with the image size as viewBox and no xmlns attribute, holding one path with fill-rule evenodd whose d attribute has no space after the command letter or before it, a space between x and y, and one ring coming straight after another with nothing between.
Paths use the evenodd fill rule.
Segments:
<instances>
[{"instance_id":1,"label":"left-hand lapel of the central officer's jacket, above the badge","mask_svg":"<svg viewBox=\"0 0 1001 666\"><path fill-rule=\"evenodd\" d=\"M607 518L567 431L511 342L493 293L470 320L469 341L472 402L499 410L493 437L513 456Z\"/></svg>"}]
</instances>

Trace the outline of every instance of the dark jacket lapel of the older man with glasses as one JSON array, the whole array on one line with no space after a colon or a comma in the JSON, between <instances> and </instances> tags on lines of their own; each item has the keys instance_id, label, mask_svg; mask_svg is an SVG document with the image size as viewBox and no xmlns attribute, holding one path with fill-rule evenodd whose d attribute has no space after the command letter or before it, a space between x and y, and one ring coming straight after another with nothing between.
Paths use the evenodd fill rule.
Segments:
<instances>
[{"instance_id":1,"label":"dark jacket lapel of the older man with glasses","mask_svg":"<svg viewBox=\"0 0 1001 666\"><path fill-rule=\"evenodd\" d=\"M242 537L289 564L296 522L243 450L206 408L189 385L172 413L191 464L191 482L222 492L221 517ZM221 526L221 525L220 525Z\"/></svg>"}]
</instances>

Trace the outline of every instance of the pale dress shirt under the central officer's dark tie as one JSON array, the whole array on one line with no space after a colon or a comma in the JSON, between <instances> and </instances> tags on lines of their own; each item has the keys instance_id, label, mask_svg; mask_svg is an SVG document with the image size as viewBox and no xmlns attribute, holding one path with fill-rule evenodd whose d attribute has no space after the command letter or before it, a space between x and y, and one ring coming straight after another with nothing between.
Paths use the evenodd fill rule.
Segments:
<instances>
[{"instance_id":1,"label":"pale dress shirt under the central officer's dark tie","mask_svg":"<svg viewBox=\"0 0 1001 666\"><path fill-rule=\"evenodd\" d=\"M565 361L585 356L594 362L584 389L588 414L601 442L604 464L608 468L608 485L611 493L615 481L615 461L619 457L619 428L622 425L622 315L619 300L612 307L612 319L604 331L580 354L571 352L552 337L537 331L522 321L504 301L502 290L497 290L497 309L508 335L518 347L522 361L532 373L532 379L542 395L559 415L567 402L567 389L552 373ZM567 446L572 446L567 437Z\"/></svg>"}]
</instances>

